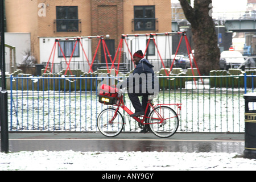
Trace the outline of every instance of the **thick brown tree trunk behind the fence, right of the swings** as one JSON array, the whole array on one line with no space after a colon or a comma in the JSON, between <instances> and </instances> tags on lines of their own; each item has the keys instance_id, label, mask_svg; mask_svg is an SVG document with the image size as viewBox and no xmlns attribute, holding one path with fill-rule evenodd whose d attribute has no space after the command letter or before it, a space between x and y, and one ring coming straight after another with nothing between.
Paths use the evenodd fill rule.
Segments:
<instances>
[{"instance_id":1,"label":"thick brown tree trunk behind the fence, right of the swings","mask_svg":"<svg viewBox=\"0 0 256 182\"><path fill-rule=\"evenodd\" d=\"M195 0L192 8L187 0L179 0L185 17L191 23L195 60L201 75L220 69L220 49L211 16L212 0Z\"/></svg>"}]
</instances>

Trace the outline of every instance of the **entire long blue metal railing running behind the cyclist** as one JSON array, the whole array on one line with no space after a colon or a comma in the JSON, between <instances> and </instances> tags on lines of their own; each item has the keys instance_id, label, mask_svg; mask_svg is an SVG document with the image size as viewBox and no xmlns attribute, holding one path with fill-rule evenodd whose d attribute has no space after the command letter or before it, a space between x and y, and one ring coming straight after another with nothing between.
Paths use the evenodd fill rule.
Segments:
<instances>
[{"instance_id":1,"label":"entire long blue metal railing running behind the cyclist","mask_svg":"<svg viewBox=\"0 0 256 182\"><path fill-rule=\"evenodd\" d=\"M98 131L97 116L102 109L110 107L98 102L97 85L104 78L11 76L10 131ZM247 88L249 78L252 86ZM162 90L154 103L183 104L178 131L243 132L242 96L253 92L253 78L254 75L246 74L160 76ZM125 104L133 110L126 94ZM127 114L125 118L125 131L139 130L134 119Z\"/></svg>"}]
</instances>

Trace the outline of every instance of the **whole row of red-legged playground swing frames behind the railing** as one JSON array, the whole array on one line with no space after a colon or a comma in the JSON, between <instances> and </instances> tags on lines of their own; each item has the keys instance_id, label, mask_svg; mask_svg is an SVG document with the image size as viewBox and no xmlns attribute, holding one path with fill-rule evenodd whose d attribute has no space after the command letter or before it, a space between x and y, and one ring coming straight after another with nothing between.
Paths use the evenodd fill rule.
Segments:
<instances>
[{"instance_id":1,"label":"whole row of red-legged playground swing frames behind the railing","mask_svg":"<svg viewBox=\"0 0 256 182\"><path fill-rule=\"evenodd\" d=\"M155 41L155 36L159 36L159 35L165 35L166 36L166 42L167 42L167 36L169 38L170 35L174 35L174 34L178 34L180 35L181 34L181 38L180 38L180 41L179 41L179 44L177 46L177 49L176 49L176 52L175 52L175 56L174 56L174 59L172 60L172 63L171 63L171 67L170 67L170 71L168 72L167 69L166 69L166 66L164 65L164 62L163 62L163 59L162 59L162 56L160 55L160 52L159 52L159 49L158 49L158 45ZM108 47L106 46L106 42L104 40L104 36L100 35L100 36L84 36L84 37L75 37L75 38L56 38L55 39L55 43L53 44L53 48L52 48L52 51L51 51L51 54L49 56L49 59L48 59L48 62L47 62L47 65L46 65L46 69L44 71L44 73L46 73L47 71L47 68L49 67L49 61L51 60L51 56L52 56L52 53L53 53L53 57L52 57L52 66L51 66L51 73L53 71L53 62L54 62L54 58L55 58L55 52L56 52L56 46L58 45L59 48L60 48L60 51L61 51L61 54L63 55L64 57L64 60L65 60L65 63L67 64L67 68L65 70L65 73L64 75L67 75L67 72L69 71L70 74L72 75L72 71L69 67L69 65L71 64L71 60L72 60L72 57L73 57L73 53L75 52L75 49L76 49L76 46L77 44L79 44L82 48L82 52L84 53L84 56L86 58L86 61L89 65L89 72L93 73L93 69L92 69L92 66L93 66L93 63L94 63L94 60L96 59L96 55L97 55L97 51L98 51L98 48L100 47L100 44L102 44L102 47L103 47L103 51L104 51L104 55L105 55L105 61L106 61L106 67L107 67L107 70L108 70L108 73L110 73L110 71L112 69L114 69L116 75L118 74L118 71L119 71L119 65L120 65L120 62L121 62L121 55L122 55L122 46L123 44L126 45L127 49L128 49L128 52L129 52L129 55L131 57L131 60L133 61L133 56L131 54L131 51L129 49L129 46L127 44L127 40L126 38L128 38L129 36L135 36L135 38L138 38L138 36L149 36L150 38L147 40L147 45L146 45L146 50L144 51L144 56L146 55L146 52L147 52L147 49L148 49L148 45L150 43L150 41L153 41L154 42L154 46L156 48L156 51L158 52L158 56L160 57L160 60L161 60L161 63L163 65L163 68L164 68L164 71L166 73L166 76L169 76L170 73L171 73L171 70L172 70L172 67L174 65L174 61L175 61L175 57L177 55L177 52L179 51L179 48L180 48L180 44L181 44L181 40L183 40L183 37L185 39L185 44L187 46L187 52L188 52L188 57L189 57L189 61L190 61L190 65L191 65L191 70L192 70L192 75L195 76L195 73L193 72L193 64L192 64L192 58L193 58L193 62L195 63L196 65L196 69L197 69L197 72L199 73L199 76L200 75L200 72L199 72L199 68L197 67L197 64L196 64L196 60L195 60L195 57L193 56L193 53L192 53L192 49L191 49L191 46L189 45L189 42L188 42L188 38L187 38L187 35L186 35L186 32L165 32L165 33L151 33L151 34L123 34L121 36L121 40L119 41L119 44L118 44L118 47L117 47L117 51L115 52L115 55L114 55L114 58L112 59L112 56L110 55L109 53L109 49ZM97 44L97 48L96 48L96 51L94 53L94 56L93 56L93 59L91 61L91 63L89 62L89 59L88 59L88 56L86 55L85 53L85 50L84 50L84 47L81 43L81 40L82 39L92 39L92 38L98 38L98 44ZM61 48L61 45L60 45L60 41L61 40L75 40L75 45L73 47L73 50L72 50L72 53L71 53L71 56L69 57L69 60L67 60L67 57L65 57L65 54L64 54L64 51L63 51L63 48ZM170 42L169 42L170 43ZM167 44L166 44L166 51L165 53L167 52ZM170 45L169 45L169 48ZM118 52L119 52L119 55L118 55ZM171 51L169 51L171 52ZM108 59L107 59L107 54L108 54L108 57L111 61L111 67L109 67L108 65ZM117 61L117 68L115 68L115 60L117 59L117 55L118 55L118 61ZM192 55L192 57L191 57ZM133 64L134 64L134 61L133 61ZM134 64L134 67L135 67L135 64ZM195 81L195 85L196 85L196 80L195 80L195 77L194 77L194 81ZM201 81L203 83L203 80L201 78Z\"/></svg>"}]
</instances>

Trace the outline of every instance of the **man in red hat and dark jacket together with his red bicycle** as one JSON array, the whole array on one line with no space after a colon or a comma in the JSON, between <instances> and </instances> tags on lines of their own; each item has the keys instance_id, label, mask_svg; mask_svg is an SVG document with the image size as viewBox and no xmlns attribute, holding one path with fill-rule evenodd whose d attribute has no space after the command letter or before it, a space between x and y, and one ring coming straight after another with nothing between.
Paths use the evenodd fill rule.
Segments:
<instances>
[{"instance_id":1,"label":"man in red hat and dark jacket together with his red bicycle","mask_svg":"<svg viewBox=\"0 0 256 182\"><path fill-rule=\"evenodd\" d=\"M111 104L111 96L106 98L103 96L102 98L99 97L101 103L105 104L105 102L107 102L106 104L115 105L117 108L108 107L102 110L97 118L97 127L106 137L115 137L121 133L125 126L125 115L122 115L119 111L121 108L138 122L138 126L142 129L141 133L152 131L152 133L158 137L171 137L176 133L179 126L178 115L180 115L181 104L158 103L153 106L149 95L156 95L159 92L158 78L152 69L153 66L148 60L143 58L142 51L135 52L133 59L136 64L133 73L130 74L126 80L123 80L123 82L121 80L112 88L115 94L119 93L119 96L117 96L116 99L114 98ZM109 87L107 87L106 90L110 90L111 92L111 88ZM134 114L133 111L125 106L123 90L118 90L119 88L122 89L126 87L128 96L135 109ZM138 96L142 96L142 104ZM175 105L178 114L167 105ZM150 108L152 109L151 112L149 110ZM142 115L144 115L144 117L140 117Z\"/></svg>"}]
</instances>

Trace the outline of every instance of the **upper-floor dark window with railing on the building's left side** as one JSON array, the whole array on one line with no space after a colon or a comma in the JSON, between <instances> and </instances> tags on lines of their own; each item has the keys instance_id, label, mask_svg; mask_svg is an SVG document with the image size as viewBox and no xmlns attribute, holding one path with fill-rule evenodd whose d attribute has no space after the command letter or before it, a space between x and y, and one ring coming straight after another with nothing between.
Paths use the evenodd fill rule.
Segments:
<instances>
[{"instance_id":1,"label":"upper-floor dark window with railing on the building's left side","mask_svg":"<svg viewBox=\"0 0 256 182\"><path fill-rule=\"evenodd\" d=\"M77 6L56 6L57 32L78 32L79 19Z\"/></svg>"}]
</instances>

